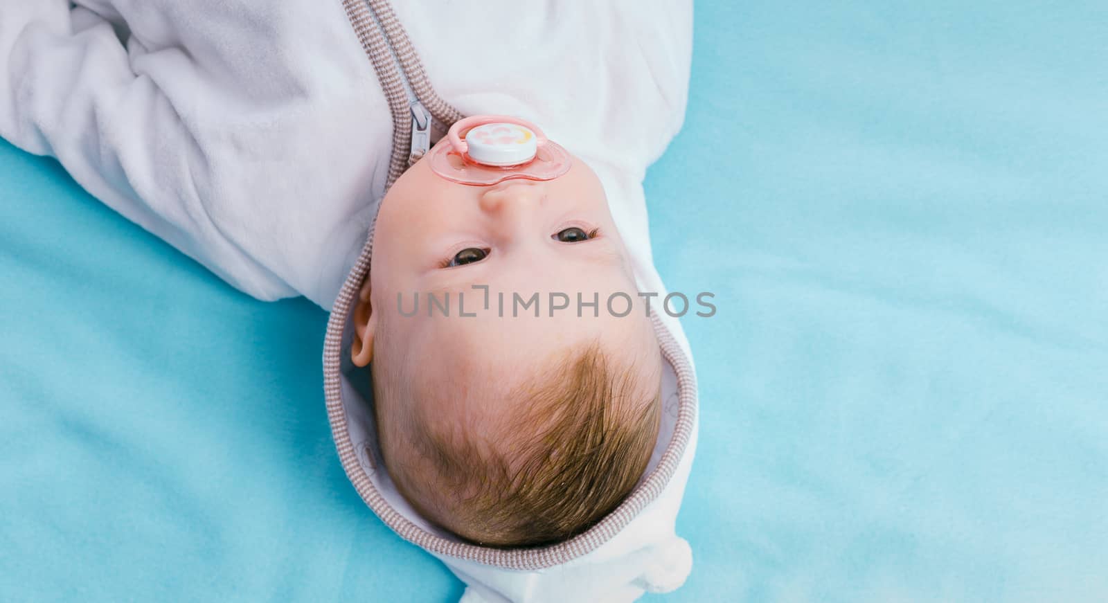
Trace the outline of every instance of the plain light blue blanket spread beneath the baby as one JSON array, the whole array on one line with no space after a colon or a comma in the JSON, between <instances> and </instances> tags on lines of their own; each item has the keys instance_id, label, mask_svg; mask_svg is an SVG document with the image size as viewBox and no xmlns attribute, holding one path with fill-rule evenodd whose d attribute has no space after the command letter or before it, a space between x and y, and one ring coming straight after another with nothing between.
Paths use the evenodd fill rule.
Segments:
<instances>
[{"instance_id":1,"label":"plain light blue blanket spread beneath the baby","mask_svg":"<svg viewBox=\"0 0 1108 603\"><path fill-rule=\"evenodd\" d=\"M1108 597L1102 2L701 2L650 171L701 433L667 601ZM454 601L366 509L326 315L0 143L0 601Z\"/></svg>"}]
</instances>

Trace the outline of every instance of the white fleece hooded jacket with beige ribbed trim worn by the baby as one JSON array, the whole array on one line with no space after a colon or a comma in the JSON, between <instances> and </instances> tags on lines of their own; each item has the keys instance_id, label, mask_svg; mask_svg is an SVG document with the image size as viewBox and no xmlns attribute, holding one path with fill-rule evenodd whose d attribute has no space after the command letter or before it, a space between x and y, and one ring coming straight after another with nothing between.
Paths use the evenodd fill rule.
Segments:
<instances>
[{"instance_id":1,"label":"white fleece hooded jacket with beige ribbed trim worn by the baby","mask_svg":"<svg viewBox=\"0 0 1108 603\"><path fill-rule=\"evenodd\" d=\"M664 292L642 181L684 119L689 0L394 10L443 99L531 120L596 171L640 288ZM91 194L259 299L332 307L384 194L391 130L339 0L0 0L0 136L57 157ZM602 545L556 564L505 569L432 550L470 585L466 600L632 600L684 581L689 552L674 520L696 444L695 384L679 324L657 315L683 358L670 362L671 397L678 374L693 388L685 422L674 402L652 459L667 429L690 431L664 488ZM346 412L353 422L358 411ZM389 505L423 525L402 501Z\"/></svg>"}]
</instances>

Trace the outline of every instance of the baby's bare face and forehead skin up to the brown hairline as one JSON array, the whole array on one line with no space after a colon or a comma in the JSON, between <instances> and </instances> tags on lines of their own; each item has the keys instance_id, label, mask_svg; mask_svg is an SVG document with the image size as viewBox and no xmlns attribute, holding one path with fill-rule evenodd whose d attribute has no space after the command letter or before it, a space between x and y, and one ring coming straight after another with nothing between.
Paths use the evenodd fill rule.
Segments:
<instances>
[{"instance_id":1,"label":"baby's bare face and forehead skin up to the brown hairline","mask_svg":"<svg viewBox=\"0 0 1108 603\"><path fill-rule=\"evenodd\" d=\"M417 163L382 203L370 278L365 293L371 302L367 338L376 348L372 358L399 375L433 371L441 377L434 381L456 389L454 396L423 399L502 400L492 392L478 396L474 389L507 387L509 381L533 374L554 350L572 350L592 340L602 340L609 354L630 362L639 356L647 364L656 361L646 307L636 296L603 186L577 159L565 175L552 181L510 180L492 186L452 183L425 162ZM608 311L607 300L615 292L634 302L628 316ZM438 306L429 307L429 296L441 304L448 293L449 316ZM460 316L459 294L464 296L461 309L476 316ZM535 294L537 317L534 306L524 309L515 304L516 295L527 302ZM552 294L554 304L568 306L554 310L554 316ZM599 316L591 306L578 315L578 294L585 303L598 302ZM418 311L403 316L401 310L410 314L417 297ZM626 299L617 298L613 309L622 314ZM382 320L388 337L373 334ZM375 345L375 338L384 345ZM359 347L360 341L356 358ZM368 361L369 354L362 356ZM503 409L470 410L495 415Z\"/></svg>"}]
</instances>

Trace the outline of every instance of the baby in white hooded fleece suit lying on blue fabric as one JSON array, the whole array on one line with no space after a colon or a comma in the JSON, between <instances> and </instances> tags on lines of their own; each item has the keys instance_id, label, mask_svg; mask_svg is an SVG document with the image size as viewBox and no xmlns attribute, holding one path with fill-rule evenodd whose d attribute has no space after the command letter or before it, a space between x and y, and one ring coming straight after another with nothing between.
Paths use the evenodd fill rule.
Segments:
<instances>
[{"instance_id":1,"label":"baby in white hooded fleece suit lying on blue fabric","mask_svg":"<svg viewBox=\"0 0 1108 603\"><path fill-rule=\"evenodd\" d=\"M695 382L679 325L637 294L664 295L642 180L681 125L690 3L392 11L0 0L0 136L234 287L334 309L325 388L343 467L466 597L675 587ZM419 159L388 94L423 100L428 80L445 99L438 135L456 119L447 101L534 120L572 151L566 170L443 177L448 140ZM401 146L419 161L399 175Z\"/></svg>"}]
</instances>

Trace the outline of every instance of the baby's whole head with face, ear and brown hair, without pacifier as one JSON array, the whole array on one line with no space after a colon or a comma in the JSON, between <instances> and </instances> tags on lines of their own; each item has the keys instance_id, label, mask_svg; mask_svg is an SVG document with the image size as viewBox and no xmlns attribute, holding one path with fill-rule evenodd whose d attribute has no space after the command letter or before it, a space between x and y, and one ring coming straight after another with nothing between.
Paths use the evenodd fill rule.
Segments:
<instances>
[{"instance_id":1,"label":"baby's whole head with face, ear and brown hair, without pacifier","mask_svg":"<svg viewBox=\"0 0 1108 603\"><path fill-rule=\"evenodd\" d=\"M476 542L538 542L573 533L629 491L657 435L661 360L603 187L583 162L553 181L492 186L417 163L382 203L371 262L351 354L373 362L386 463L425 518ZM626 297L609 311L615 293ZM589 349L611 372L578 364ZM587 438L602 422L597 447ZM573 500L562 482L532 488L563 471L579 473ZM538 503L527 497L545 495L561 502L543 499L544 509L565 513L550 513L550 533L532 533L526 509Z\"/></svg>"}]
</instances>

